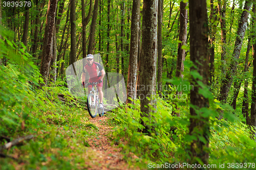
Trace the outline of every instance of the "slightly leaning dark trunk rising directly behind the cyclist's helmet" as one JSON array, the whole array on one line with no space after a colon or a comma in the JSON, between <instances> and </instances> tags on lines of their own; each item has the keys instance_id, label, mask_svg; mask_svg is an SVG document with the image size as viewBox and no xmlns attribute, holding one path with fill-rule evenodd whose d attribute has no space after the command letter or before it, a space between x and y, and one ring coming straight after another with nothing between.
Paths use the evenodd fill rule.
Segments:
<instances>
[{"instance_id":1,"label":"slightly leaning dark trunk rising directly behind the cyclist's helmet","mask_svg":"<svg viewBox=\"0 0 256 170\"><path fill-rule=\"evenodd\" d=\"M90 38L89 38L89 45L88 45L88 51L87 51L88 54L93 53L94 34L95 34L95 26L96 26L98 8L99 8L99 0L95 0L94 9L93 9L92 24L91 24L91 31L90 31L90 35L89 35Z\"/></svg>"}]
</instances>

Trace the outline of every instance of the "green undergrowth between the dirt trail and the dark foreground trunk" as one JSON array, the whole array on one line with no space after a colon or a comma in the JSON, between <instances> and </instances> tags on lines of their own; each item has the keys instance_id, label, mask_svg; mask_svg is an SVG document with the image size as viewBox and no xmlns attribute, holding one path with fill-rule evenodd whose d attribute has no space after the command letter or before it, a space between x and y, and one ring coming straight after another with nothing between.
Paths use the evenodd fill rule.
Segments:
<instances>
[{"instance_id":1,"label":"green undergrowth between the dirt trail and the dark foreground trunk","mask_svg":"<svg viewBox=\"0 0 256 170\"><path fill-rule=\"evenodd\" d=\"M170 132L169 122L175 119L169 114L172 112L172 106L164 100L158 100L157 112L152 113L152 117L157 121L152 123L149 118L143 117L146 125L154 126L154 132L152 131L151 136L148 136L138 132L138 129L142 130L144 127L139 123L142 118L139 111L140 103L138 100L134 102L134 105L129 105L130 108L118 108L116 113L112 114L117 125L113 132L114 143L123 140L128 142L127 144L119 143L126 156L133 152L145 160L169 160L169 157L176 155L181 147L181 145L174 144L175 135L173 136Z\"/></svg>"}]
</instances>

